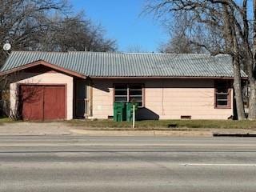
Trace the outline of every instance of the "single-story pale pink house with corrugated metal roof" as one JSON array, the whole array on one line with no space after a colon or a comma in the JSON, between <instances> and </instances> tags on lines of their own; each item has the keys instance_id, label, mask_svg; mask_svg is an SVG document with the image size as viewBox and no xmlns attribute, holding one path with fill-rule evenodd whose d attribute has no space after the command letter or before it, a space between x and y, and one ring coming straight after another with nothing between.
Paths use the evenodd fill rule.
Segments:
<instances>
[{"instance_id":1,"label":"single-story pale pink house with corrugated metal roof","mask_svg":"<svg viewBox=\"0 0 256 192\"><path fill-rule=\"evenodd\" d=\"M232 59L224 54L13 51L0 74L10 75L11 114L28 120L112 118L114 102L130 101L138 119L234 113Z\"/></svg>"}]
</instances>

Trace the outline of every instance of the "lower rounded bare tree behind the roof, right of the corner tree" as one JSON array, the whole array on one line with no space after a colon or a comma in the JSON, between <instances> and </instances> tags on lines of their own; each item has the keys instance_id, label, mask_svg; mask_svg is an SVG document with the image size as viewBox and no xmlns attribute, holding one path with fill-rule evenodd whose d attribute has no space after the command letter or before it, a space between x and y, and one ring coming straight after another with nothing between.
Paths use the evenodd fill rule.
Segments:
<instances>
[{"instance_id":1,"label":"lower rounded bare tree behind the roof, right of the corner tree","mask_svg":"<svg viewBox=\"0 0 256 192\"><path fill-rule=\"evenodd\" d=\"M57 16L51 18L52 24L38 49L54 51L114 51L114 40L105 38L102 26L95 26L84 14L74 17Z\"/></svg>"}]
</instances>

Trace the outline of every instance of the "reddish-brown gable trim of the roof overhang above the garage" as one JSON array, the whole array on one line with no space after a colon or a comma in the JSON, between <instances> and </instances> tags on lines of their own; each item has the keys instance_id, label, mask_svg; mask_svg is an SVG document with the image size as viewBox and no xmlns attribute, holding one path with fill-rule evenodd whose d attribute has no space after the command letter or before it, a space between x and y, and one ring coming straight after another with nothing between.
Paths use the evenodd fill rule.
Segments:
<instances>
[{"instance_id":1,"label":"reddish-brown gable trim of the roof overhang above the garage","mask_svg":"<svg viewBox=\"0 0 256 192\"><path fill-rule=\"evenodd\" d=\"M26 70L26 69L28 69L30 67L33 67L33 66L47 66L47 67L49 67L53 70L58 70L58 71L62 72L63 74L69 74L70 76L74 76L74 77L78 77L78 78L84 78L84 79L87 78L83 74L79 74L79 73L77 73L73 70L67 70L67 69L65 69L61 66L56 66L54 64L51 64L51 63L43 61L43 60L38 60L36 62L30 62L30 63L27 63L23 66L18 66L14 69L11 69L11 70L2 71L2 72L0 72L0 76L6 75L6 74L13 74L13 73L18 72L20 70Z\"/></svg>"}]
</instances>

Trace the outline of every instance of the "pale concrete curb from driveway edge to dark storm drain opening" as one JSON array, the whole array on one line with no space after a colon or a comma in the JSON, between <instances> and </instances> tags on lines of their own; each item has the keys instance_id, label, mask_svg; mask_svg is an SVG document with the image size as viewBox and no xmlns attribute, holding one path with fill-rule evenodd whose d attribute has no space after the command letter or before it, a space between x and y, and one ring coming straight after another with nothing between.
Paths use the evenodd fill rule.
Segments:
<instances>
[{"instance_id":1,"label":"pale concrete curb from driveway edge to dark storm drain opening","mask_svg":"<svg viewBox=\"0 0 256 192\"><path fill-rule=\"evenodd\" d=\"M211 131L197 130L78 130L71 129L74 134L90 136L166 136L166 137L213 137Z\"/></svg>"}]
</instances>

